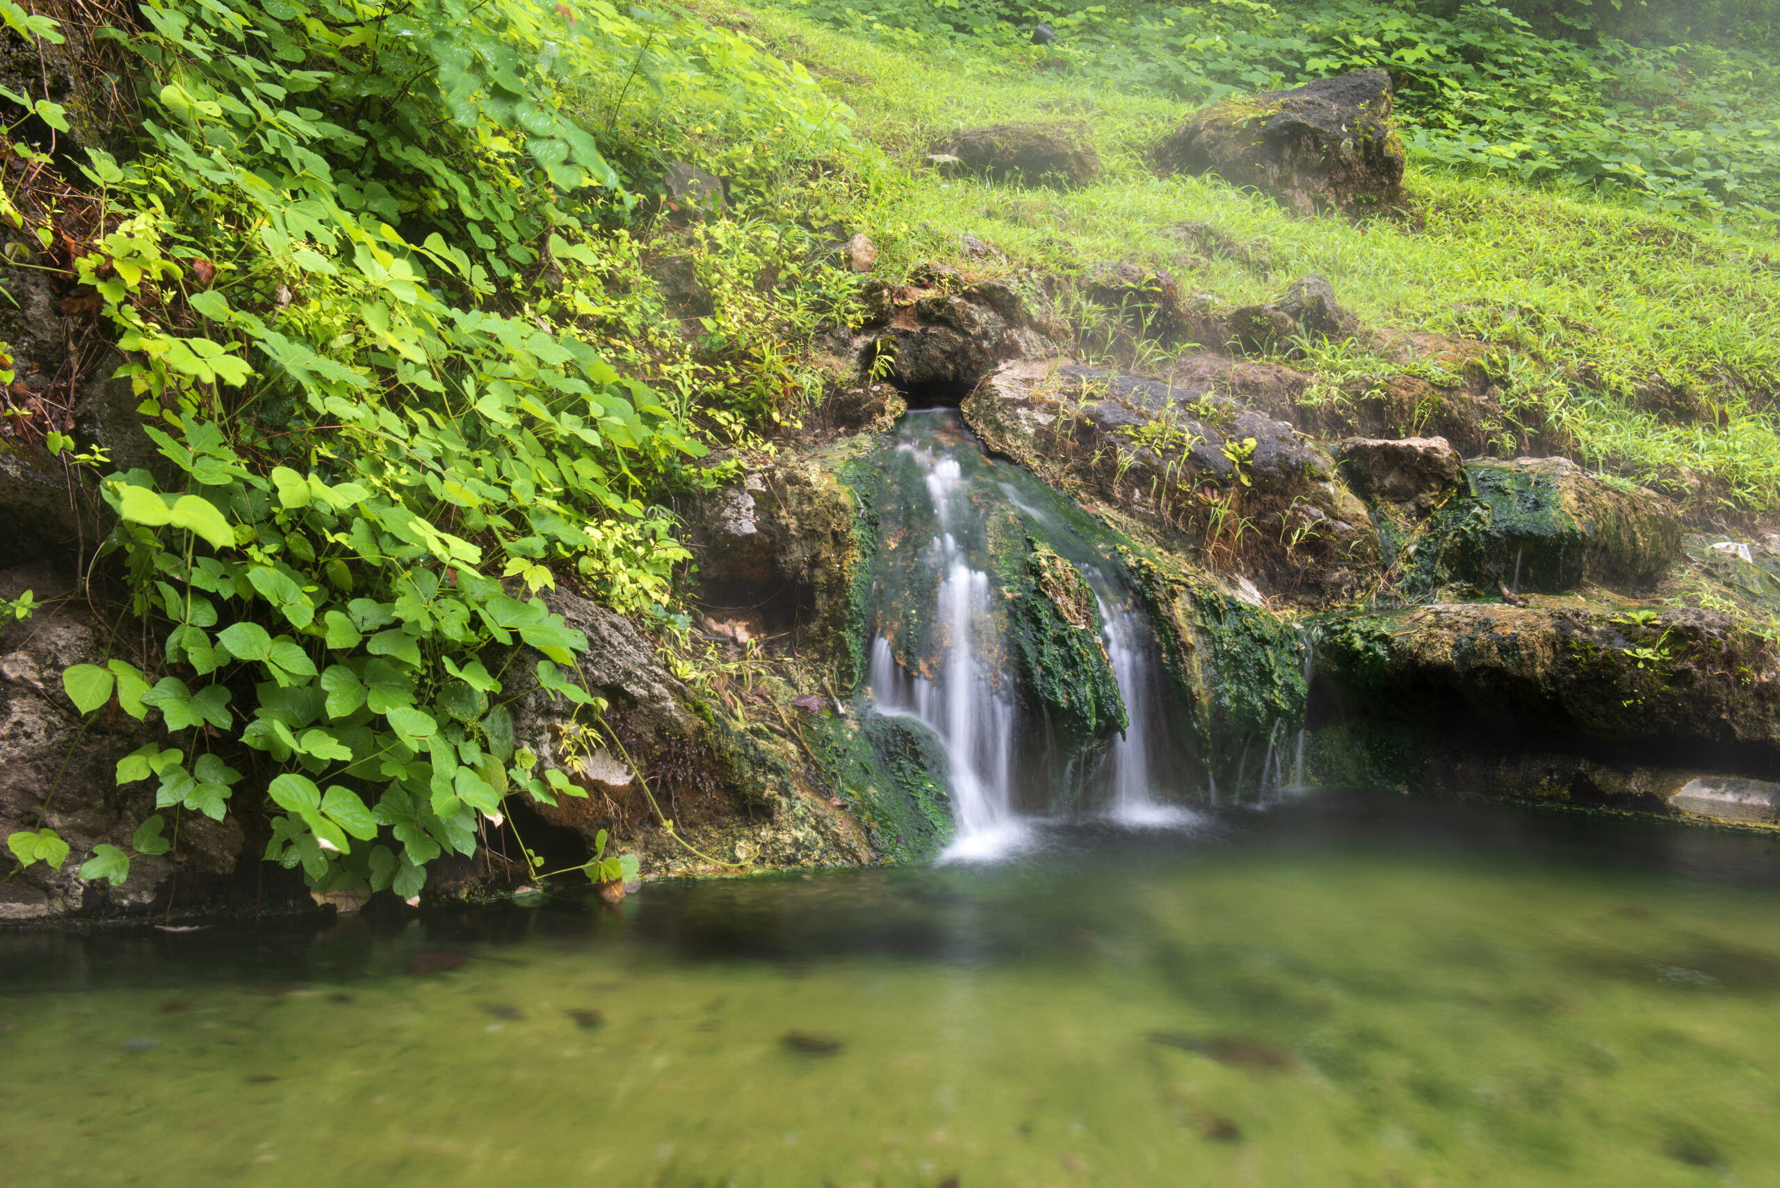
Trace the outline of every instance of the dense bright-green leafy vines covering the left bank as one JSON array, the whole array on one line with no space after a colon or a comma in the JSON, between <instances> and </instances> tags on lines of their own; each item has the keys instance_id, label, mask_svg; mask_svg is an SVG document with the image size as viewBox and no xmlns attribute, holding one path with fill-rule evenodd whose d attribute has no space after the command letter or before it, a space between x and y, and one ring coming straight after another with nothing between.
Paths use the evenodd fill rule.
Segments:
<instances>
[{"instance_id":1,"label":"dense bright-green leafy vines covering the left bank","mask_svg":"<svg viewBox=\"0 0 1780 1188\"><path fill-rule=\"evenodd\" d=\"M101 229L75 267L166 459L100 486L119 521L105 551L162 646L150 674L75 665L64 690L82 713L158 713L176 745L117 763L119 783L158 781L158 809L221 820L240 768L271 770L253 788L267 861L408 898L425 863L475 852L507 795L568 783L516 761L513 647L603 708L570 676L586 638L536 594L566 569L659 614L689 558L662 496L708 486L701 437L785 395L756 382L783 366L749 365L781 325L760 299L756 329L712 329L707 354L732 363L703 373L651 354L646 309L612 301L657 162L721 169L742 203L846 130L744 37L600 2L141 12L139 34L101 30L135 59L141 144L128 164L91 155ZM805 251L764 247L773 231L698 233L753 292ZM701 375L721 381L712 407L689 398ZM134 848L166 852L162 827ZM100 847L82 877L117 884L128 861ZM603 847L596 864L635 875Z\"/></svg>"}]
</instances>

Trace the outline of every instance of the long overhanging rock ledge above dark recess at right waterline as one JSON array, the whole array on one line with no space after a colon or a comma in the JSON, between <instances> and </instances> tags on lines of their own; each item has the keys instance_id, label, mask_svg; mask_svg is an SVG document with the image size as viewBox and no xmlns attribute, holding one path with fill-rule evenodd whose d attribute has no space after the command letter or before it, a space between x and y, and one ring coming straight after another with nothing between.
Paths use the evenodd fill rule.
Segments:
<instances>
[{"instance_id":1,"label":"long overhanging rock ledge above dark recess at right waterline","mask_svg":"<svg viewBox=\"0 0 1780 1188\"><path fill-rule=\"evenodd\" d=\"M1780 756L1773 644L1705 610L1436 603L1328 624L1319 674L1351 713L1476 731L1506 751L1543 740Z\"/></svg>"}]
</instances>

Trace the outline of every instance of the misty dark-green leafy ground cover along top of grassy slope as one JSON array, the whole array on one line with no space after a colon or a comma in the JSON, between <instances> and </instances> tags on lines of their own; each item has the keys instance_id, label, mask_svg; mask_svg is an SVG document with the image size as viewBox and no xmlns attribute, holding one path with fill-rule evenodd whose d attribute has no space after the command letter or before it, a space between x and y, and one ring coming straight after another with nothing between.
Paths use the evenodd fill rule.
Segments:
<instances>
[{"instance_id":1,"label":"misty dark-green leafy ground cover along top of grassy slope","mask_svg":"<svg viewBox=\"0 0 1780 1188\"><path fill-rule=\"evenodd\" d=\"M1748 50L1686 37L1581 44L1574 25L1536 30L1493 4L792 4L981 69L1057 59L1098 85L1194 103L1383 68L1424 160L1600 187L1663 210L1780 203L1780 75ZM1032 48L1036 21L1061 43Z\"/></svg>"}]
</instances>

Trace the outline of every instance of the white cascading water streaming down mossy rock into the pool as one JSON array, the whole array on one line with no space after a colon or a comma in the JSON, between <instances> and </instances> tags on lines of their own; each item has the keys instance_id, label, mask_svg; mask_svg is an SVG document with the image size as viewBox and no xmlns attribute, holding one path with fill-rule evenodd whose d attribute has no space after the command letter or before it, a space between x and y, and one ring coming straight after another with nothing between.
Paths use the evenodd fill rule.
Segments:
<instances>
[{"instance_id":1,"label":"white cascading water streaming down mossy rock into the pool","mask_svg":"<svg viewBox=\"0 0 1780 1188\"><path fill-rule=\"evenodd\" d=\"M1130 825L1193 820L1162 800L1189 791L1169 784L1194 765L1177 754L1155 640L1130 590L1105 571L1111 550L1096 551L1066 523L1075 512L1054 493L984 459L956 414L911 413L901 436L883 455L890 489L879 507L867 681L879 713L918 720L945 756L956 831L942 857L1018 848L1027 834L1022 811L1048 813L1072 799L1104 804ZM1123 733L1105 742L1059 743L1048 718L1018 692L1011 590L993 541L1002 542L1006 569L1006 542L1024 550L1029 534L1075 566L1098 605L1127 718Z\"/></svg>"}]
</instances>

